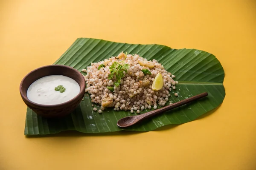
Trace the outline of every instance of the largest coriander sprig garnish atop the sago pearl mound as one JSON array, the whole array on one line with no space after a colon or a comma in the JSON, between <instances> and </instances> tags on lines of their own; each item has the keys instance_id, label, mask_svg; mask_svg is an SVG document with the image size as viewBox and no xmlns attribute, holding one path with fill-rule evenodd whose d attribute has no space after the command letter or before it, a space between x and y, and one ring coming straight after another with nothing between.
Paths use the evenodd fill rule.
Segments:
<instances>
[{"instance_id":1,"label":"largest coriander sprig garnish atop the sago pearl mound","mask_svg":"<svg viewBox=\"0 0 256 170\"><path fill-rule=\"evenodd\" d=\"M125 58L120 63L113 62L112 65L109 67L110 74L108 74L108 79L116 78L114 85L117 87L120 85L121 79L125 77L125 73L127 73L127 69L129 68L129 64L125 64L125 59L127 57L127 52L125 53Z\"/></svg>"}]
</instances>

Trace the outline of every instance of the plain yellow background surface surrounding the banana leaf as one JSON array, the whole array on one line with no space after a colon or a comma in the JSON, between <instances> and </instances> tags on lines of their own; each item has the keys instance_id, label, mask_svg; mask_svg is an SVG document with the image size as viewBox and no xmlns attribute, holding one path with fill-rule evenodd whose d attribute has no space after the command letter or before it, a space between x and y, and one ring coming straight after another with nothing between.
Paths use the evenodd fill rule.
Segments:
<instances>
[{"instance_id":1,"label":"plain yellow background surface surrounding the banana leaf","mask_svg":"<svg viewBox=\"0 0 256 170\"><path fill-rule=\"evenodd\" d=\"M224 102L146 133L24 136L21 79L78 37L212 53ZM0 0L0 170L255 170L255 61L255 0Z\"/></svg>"}]
</instances>

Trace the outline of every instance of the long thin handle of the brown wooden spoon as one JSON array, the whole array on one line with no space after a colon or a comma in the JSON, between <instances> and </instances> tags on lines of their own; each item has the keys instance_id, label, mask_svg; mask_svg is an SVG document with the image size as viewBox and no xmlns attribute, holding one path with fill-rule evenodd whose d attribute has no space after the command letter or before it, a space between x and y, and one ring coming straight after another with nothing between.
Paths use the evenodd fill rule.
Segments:
<instances>
[{"instance_id":1,"label":"long thin handle of the brown wooden spoon","mask_svg":"<svg viewBox=\"0 0 256 170\"><path fill-rule=\"evenodd\" d=\"M187 103L189 102L193 102L197 99L201 99L202 97L205 97L207 96L208 93L207 92L204 92L204 93L201 93L201 94L198 94L196 96L192 96L192 97L189 97L187 99L184 99L184 100L181 100L179 102L176 102L176 103L173 103L172 105L169 105L169 106L165 106L163 108L160 108L160 109L157 109L157 110L154 110L154 111L150 111L148 113L144 113L144 114L141 114L141 115L137 115L136 116L136 119L138 120L143 120L143 119L147 119L148 117L151 117L151 116L154 116L154 115L157 115L157 114L160 114L160 113L163 113L165 111L169 111L171 109L174 109L174 108L177 108L179 106L182 106L182 105L186 105Z\"/></svg>"}]
</instances>

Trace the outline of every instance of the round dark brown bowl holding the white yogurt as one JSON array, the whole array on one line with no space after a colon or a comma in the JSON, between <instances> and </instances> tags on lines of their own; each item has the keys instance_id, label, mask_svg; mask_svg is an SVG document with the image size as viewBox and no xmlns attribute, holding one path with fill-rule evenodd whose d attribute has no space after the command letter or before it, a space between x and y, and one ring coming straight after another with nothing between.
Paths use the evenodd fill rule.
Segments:
<instances>
[{"instance_id":1,"label":"round dark brown bowl holding the white yogurt","mask_svg":"<svg viewBox=\"0 0 256 170\"><path fill-rule=\"evenodd\" d=\"M37 79L50 75L63 75L76 80L80 86L79 94L73 99L58 105L42 105L30 101L26 95L29 86ZM47 118L63 117L70 114L79 105L84 97L84 93L85 80L83 75L76 69L65 65L47 65L37 68L27 74L20 83L20 95L25 104L38 115Z\"/></svg>"}]
</instances>

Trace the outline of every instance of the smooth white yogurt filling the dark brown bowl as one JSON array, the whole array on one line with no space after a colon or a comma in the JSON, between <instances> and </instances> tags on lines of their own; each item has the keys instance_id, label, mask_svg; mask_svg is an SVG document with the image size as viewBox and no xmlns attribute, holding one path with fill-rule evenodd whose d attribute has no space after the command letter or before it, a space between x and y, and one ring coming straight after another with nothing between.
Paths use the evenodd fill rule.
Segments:
<instances>
[{"instance_id":1,"label":"smooth white yogurt filling the dark brown bowl","mask_svg":"<svg viewBox=\"0 0 256 170\"><path fill-rule=\"evenodd\" d=\"M56 87L62 85L65 91L56 91ZM70 77L52 75L42 77L33 82L27 91L30 101L42 105L57 105L73 99L80 92L79 84Z\"/></svg>"}]
</instances>

